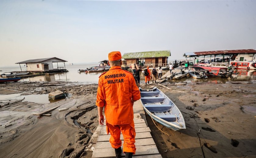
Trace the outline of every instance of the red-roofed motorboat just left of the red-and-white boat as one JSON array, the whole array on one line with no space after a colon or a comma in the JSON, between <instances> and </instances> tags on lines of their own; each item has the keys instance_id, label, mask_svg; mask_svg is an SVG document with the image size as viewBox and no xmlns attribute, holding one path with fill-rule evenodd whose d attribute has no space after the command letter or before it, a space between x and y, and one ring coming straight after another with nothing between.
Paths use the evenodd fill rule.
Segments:
<instances>
[{"instance_id":1,"label":"red-roofed motorboat just left of the red-and-white boat","mask_svg":"<svg viewBox=\"0 0 256 158\"><path fill-rule=\"evenodd\" d=\"M202 67L202 66L194 66L192 67L195 70L204 71L204 73L208 77L221 77L227 78L231 76L231 73L228 73L228 68L226 67Z\"/></svg>"}]
</instances>

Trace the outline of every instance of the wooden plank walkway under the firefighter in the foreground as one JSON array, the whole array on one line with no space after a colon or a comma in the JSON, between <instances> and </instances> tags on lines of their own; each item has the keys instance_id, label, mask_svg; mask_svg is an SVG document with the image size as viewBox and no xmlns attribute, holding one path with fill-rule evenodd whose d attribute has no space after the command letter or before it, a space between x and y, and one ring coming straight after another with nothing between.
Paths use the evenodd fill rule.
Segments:
<instances>
[{"instance_id":1,"label":"wooden plank walkway under the firefighter in the foreground","mask_svg":"<svg viewBox=\"0 0 256 158\"><path fill-rule=\"evenodd\" d=\"M133 155L135 158L162 158L155 145L155 142L151 136L151 130L148 127L145 112L142 107L140 100L136 101L133 105L134 112L134 125L136 131L135 145L136 154ZM115 149L113 149L109 143L110 134L107 135L106 125L99 125L92 135L85 150L93 151L92 158L115 158ZM123 144L123 135L121 134L120 139ZM123 146L121 146L123 149ZM124 154L122 153L122 157Z\"/></svg>"}]
</instances>

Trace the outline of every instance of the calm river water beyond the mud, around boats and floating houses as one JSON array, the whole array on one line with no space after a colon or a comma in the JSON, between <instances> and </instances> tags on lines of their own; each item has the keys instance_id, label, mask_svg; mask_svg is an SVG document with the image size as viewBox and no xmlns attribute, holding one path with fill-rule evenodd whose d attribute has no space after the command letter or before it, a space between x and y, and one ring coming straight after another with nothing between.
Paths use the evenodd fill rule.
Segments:
<instances>
[{"instance_id":1,"label":"calm river water beyond the mud, around boats and floating houses","mask_svg":"<svg viewBox=\"0 0 256 158\"><path fill-rule=\"evenodd\" d=\"M98 66L99 63L85 63L85 64L73 64L73 65L66 65L66 69L69 70L69 72L66 73L56 73L53 75L41 75L41 76L35 76L35 77L29 77L29 78L23 78L20 81L70 81L70 82L78 82L80 84L94 84L98 83L98 77L102 74L102 72L94 72L94 73L79 73L79 69L86 69L92 66ZM62 64L59 64L59 66L64 66ZM54 65L54 68L56 68L57 65ZM21 65L21 68L23 71L26 71L26 67L24 65ZM11 71L20 71L20 66L17 65L15 67L0 67L0 74L3 74L5 72L11 72ZM163 74L165 74L167 70L163 70ZM255 70L238 70L235 71L237 74L233 74L232 81L256 81L256 71ZM208 79L193 79L191 77L182 78L180 80L171 81L171 82L215 82L216 84L225 84L226 81L229 81L228 79L222 79L222 78L208 78ZM152 82L152 81L150 81ZM140 76L140 83L144 83L144 75L141 74Z\"/></svg>"}]
</instances>

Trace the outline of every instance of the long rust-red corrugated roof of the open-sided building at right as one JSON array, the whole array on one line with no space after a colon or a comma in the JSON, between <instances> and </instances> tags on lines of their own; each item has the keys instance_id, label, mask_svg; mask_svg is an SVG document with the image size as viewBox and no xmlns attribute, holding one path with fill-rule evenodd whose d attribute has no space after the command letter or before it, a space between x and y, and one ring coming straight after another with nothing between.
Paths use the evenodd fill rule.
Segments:
<instances>
[{"instance_id":1,"label":"long rust-red corrugated roof of the open-sided building at right","mask_svg":"<svg viewBox=\"0 0 256 158\"><path fill-rule=\"evenodd\" d=\"M238 53L256 53L254 49L247 50L216 50L216 51L205 51L205 52L194 52L196 55L215 55L215 54L238 54Z\"/></svg>"}]
</instances>

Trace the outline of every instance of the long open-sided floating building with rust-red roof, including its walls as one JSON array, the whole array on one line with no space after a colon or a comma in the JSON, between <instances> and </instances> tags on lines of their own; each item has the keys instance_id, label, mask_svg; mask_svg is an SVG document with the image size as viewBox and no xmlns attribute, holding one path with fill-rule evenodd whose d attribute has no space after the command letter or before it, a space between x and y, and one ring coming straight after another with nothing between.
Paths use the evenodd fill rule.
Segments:
<instances>
[{"instance_id":1,"label":"long open-sided floating building with rust-red roof, including its walls","mask_svg":"<svg viewBox=\"0 0 256 158\"><path fill-rule=\"evenodd\" d=\"M205 51L205 52L190 52L184 53L183 57L191 58L195 60L196 57L210 57L210 62L216 62L216 56L220 56L218 61L226 62L237 60L237 61L252 61L256 58L256 50L216 50L216 51Z\"/></svg>"}]
</instances>

